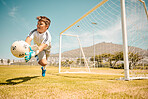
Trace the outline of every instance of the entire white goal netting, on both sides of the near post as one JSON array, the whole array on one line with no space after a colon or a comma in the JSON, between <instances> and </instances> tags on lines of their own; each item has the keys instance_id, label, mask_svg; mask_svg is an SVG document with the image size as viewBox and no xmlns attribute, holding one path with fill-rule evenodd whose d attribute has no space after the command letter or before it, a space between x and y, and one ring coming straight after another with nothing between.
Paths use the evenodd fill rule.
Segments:
<instances>
[{"instance_id":1,"label":"entire white goal netting, on both sides of the near post","mask_svg":"<svg viewBox=\"0 0 148 99\"><path fill-rule=\"evenodd\" d=\"M139 0L126 0L125 6L130 76L135 76L136 72L147 76L148 22L145 9ZM85 67L84 58L91 71L100 67L124 68L120 0L108 0L63 34L78 35L85 57L76 38L62 36L61 71L66 66L70 70L72 64ZM83 65L79 66L79 63Z\"/></svg>"}]
</instances>

